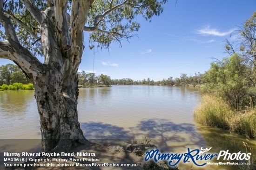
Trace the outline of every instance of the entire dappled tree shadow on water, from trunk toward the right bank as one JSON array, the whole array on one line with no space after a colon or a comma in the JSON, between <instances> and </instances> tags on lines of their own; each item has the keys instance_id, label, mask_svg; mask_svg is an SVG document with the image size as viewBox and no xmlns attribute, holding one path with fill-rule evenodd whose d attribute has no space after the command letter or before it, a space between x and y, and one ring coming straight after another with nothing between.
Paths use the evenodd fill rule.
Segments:
<instances>
[{"instance_id":1,"label":"entire dappled tree shadow on water, from trunk toward the right bank","mask_svg":"<svg viewBox=\"0 0 256 170\"><path fill-rule=\"evenodd\" d=\"M128 130L101 122L81 123L81 129L87 139L97 139L97 143L111 143L109 139L113 139L112 142L115 144L120 144L120 141L146 143L147 140L153 139L150 143L163 151L173 151L175 147L188 148L197 145L198 148L198 145L204 145L204 140L195 125L175 124L166 119L142 120Z\"/></svg>"}]
</instances>

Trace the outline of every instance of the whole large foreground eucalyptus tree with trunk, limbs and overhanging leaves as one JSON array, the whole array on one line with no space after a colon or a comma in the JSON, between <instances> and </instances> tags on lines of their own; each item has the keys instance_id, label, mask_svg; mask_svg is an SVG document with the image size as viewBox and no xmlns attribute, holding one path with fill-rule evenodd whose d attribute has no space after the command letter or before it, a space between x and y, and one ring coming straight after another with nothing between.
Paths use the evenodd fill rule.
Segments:
<instances>
[{"instance_id":1,"label":"whole large foreground eucalyptus tree with trunk, limbs and overhanging leaves","mask_svg":"<svg viewBox=\"0 0 256 170\"><path fill-rule=\"evenodd\" d=\"M0 58L16 63L34 84L41 151L86 140L77 118L84 45L108 48L132 38L140 28L136 16L150 21L166 1L0 0ZM89 44L84 44L84 31L90 32Z\"/></svg>"}]
</instances>

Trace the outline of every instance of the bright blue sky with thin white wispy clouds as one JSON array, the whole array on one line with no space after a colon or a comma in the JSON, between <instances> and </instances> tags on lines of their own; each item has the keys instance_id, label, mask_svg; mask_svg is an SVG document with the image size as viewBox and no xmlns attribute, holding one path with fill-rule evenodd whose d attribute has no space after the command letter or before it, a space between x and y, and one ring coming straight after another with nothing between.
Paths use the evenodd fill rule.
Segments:
<instances>
[{"instance_id":1,"label":"bright blue sky with thin white wispy clouds","mask_svg":"<svg viewBox=\"0 0 256 170\"><path fill-rule=\"evenodd\" d=\"M224 40L256 11L256 0L168 0L164 7L151 22L137 18L138 37L113 43L108 50L89 50L85 32L79 71L154 81L204 73L213 57L228 56ZM7 63L12 62L0 59L0 65Z\"/></svg>"}]
</instances>

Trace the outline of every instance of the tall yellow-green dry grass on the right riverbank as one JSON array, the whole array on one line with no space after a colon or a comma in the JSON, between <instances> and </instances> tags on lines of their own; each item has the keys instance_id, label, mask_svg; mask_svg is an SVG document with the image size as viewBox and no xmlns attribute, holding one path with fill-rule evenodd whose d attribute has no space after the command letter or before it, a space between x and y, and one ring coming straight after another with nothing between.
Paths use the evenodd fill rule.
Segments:
<instances>
[{"instance_id":1,"label":"tall yellow-green dry grass on the right riverbank","mask_svg":"<svg viewBox=\"0 0 256 170\"><path fill-rule=\"evenodd\" d=\"M256 138L256 107L250 107L241 112L232 110L222 99L204 94L201 105L194 111L196 122L228 129L240 133L247 138Z\"/></svg>"}]
</instances>

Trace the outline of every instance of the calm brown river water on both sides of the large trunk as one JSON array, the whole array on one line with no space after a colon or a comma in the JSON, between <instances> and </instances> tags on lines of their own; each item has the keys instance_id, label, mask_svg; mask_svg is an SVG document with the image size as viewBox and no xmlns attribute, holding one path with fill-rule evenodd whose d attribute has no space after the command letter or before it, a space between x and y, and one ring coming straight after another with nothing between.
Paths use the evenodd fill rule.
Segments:
<instances>
[{"instance_id":1,"label":"calm brown river water on both sides of the large trunk","mask_svg":"<svg viewBox=\"0 0 256 170\"><path fill-rule=\"evenodd\" d=\"M187 148L201 147L212 147L211 151L216 153L221 150L245 152L243 141L255 147L255 140L246 141L229 131L197 125L193 120L193 110L199 103L198 88L80 88L78 117L85 137L96 139L96 142L115 141L123 145L127 142L147 143L152 139L151 144L168 153L184 153L188 151ZM0 139L40 139L40 122L33 90L0 91ZM32 142L31 147L38 145ZM191 164L180 166L187 169ZM205 169L205 166L201 169ZM212 165L208 169L239 168Z\"/></svg>"}]
</instances>

